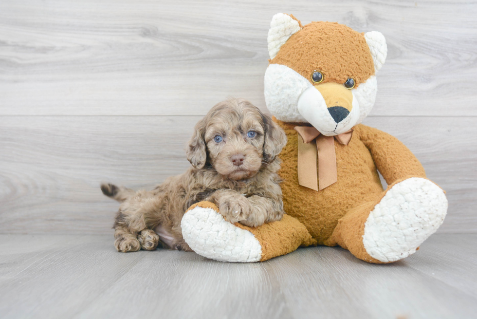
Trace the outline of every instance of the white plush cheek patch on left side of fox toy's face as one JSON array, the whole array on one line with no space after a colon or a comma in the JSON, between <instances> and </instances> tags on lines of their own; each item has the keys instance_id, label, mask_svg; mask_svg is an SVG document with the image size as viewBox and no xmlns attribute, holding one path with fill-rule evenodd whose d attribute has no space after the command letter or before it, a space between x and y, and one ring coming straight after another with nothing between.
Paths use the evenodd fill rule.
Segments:
<instances>
[{"instance_id":1,"label":"white plush cheek patch on left side of fox toy's face","mask_svg":"<svg viewBox=\"0 0 477 319\"><path fill-rule=\"evenodd\" d=\"M306 122L298 112L300 95L309 87L310 81L289 67L270 64L265 72L265 103L277 119L285 122Z\"/></svg>"}]
</instances>

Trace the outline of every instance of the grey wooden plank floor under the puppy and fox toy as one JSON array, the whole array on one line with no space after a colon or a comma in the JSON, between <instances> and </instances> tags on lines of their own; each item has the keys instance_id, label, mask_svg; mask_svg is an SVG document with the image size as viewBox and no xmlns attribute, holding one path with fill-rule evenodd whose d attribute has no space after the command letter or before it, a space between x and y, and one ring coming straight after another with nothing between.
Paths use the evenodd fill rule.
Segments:
<instances>
[{"instance_id":1,"label":"grey wooden plank floor under the puppy and fox toy","mask_svg":"<svg viewBox=\"0 0 477 319\"><path fill-rule=\"evenodd\" d=\"M118 253L112 235L0 235L0 318L476 318L476 241L436 234L388 265L338 247L238 264Z\"/></svg>"}]
</instances>

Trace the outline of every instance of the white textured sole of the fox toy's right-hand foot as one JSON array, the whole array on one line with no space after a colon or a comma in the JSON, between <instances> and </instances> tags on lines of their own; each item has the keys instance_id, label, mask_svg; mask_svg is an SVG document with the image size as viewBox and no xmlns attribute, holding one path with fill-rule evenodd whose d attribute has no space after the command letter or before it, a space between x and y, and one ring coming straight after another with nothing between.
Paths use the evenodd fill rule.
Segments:
<instances>
[{"instance_id":1,"label":"white textured sole of the fox toy's right-hand foot","mask_svg":"<svg viewBox=\"0 0 477 319\"><path fill-rule=\"evenodd\" d=\"M444 221L444 191L424 178L406 179L387 191L365 223L363 244L381 262L395 262L416 252Z\"/></svg>"}]
</instances>

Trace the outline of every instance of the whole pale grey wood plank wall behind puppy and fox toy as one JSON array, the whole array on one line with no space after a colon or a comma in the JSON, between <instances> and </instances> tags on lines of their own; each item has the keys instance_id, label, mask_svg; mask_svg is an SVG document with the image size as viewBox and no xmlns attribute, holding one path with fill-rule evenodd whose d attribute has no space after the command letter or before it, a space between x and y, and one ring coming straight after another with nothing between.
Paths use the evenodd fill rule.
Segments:
<instances>
[{"instance_id":1,"label":"whole pale grey wood plank wall behind puppy and fox toy","mask_svg":"<svg viewBox=\"0 0 477 319\"><path fill-rule=\"evenodd\" d=\"M365 124L447 190L440 232L476 233L477 4L454 0L1 0L0 232L110 233L101 181L182 172L193 125L228 95L265 110L277 12L385 35Z\"/></svg>"}]
</instances>

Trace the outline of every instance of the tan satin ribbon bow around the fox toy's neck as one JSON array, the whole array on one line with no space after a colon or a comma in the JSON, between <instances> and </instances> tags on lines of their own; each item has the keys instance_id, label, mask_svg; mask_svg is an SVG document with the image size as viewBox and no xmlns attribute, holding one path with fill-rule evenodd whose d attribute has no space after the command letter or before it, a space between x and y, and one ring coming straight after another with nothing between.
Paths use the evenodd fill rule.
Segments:
<instances>
[{"instance_id":1,"label":"tan satin ribbon bow around the fox toy's neck","mask_svg":"<svg viewBox=\"0 0 477 319\"><path fill-rule=\"evenodd\" d=\"M318 191L318 179L320 190L336 183L338 177L334 138L340 144L348 145L353 130L336 136L325 136L310 126L295 126L294 130L298 132L298 184Z\"/></svg>"}]
</instances>

